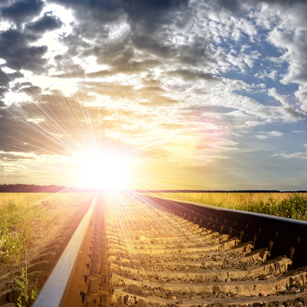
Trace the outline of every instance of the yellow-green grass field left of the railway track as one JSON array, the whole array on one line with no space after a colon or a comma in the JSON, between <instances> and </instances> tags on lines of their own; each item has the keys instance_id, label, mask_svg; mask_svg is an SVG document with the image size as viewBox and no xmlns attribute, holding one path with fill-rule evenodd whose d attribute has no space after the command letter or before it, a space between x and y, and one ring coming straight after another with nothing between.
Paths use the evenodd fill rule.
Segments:
<instances>
[{"instance_id":1,"label":"yellow-green grass field left of the railway track","mask_svg":"<svg viewBox=\"0 0 307 307\"><path fill-rule=\"evenodd\" d=\"M0 263L12 256L18 261L35 236L33 223L48 229L70 206L90 197L90 193L0 193Z\"/></svg>"}]
</instances>

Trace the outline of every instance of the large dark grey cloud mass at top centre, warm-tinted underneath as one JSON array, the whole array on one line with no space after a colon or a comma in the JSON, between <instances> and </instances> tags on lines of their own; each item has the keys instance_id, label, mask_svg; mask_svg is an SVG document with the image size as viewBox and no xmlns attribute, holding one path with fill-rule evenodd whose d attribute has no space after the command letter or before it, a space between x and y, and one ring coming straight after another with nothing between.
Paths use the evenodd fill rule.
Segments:
<instances>
[{"instance_id":1,"label":"large dark grey cloud mass at top centre, warm-tinted underneath","mask_svg":"<svg viewBox=\"0 0 307 307\"><path fill-rule=\"evenodd\" d=\"M203 36L195 35L188 44L182 46L169 41L166 33L171 30L168 27L172 25L180 30L192 17L187 0L56 0L56 3L71 8L76 17L72 33L62 39L68 52L54 58L56 69L63 72L57 75L59 78L84 76L80 66L72 62L74 56L84 58L93 55L97 57L97 64L109 66L107 70L87 74L88 78L117 73L149 73L151 69L164 67L165 63L185 64L194 68L202 65L204 68L216 61L208 51L210 41L206 41ZM122 22L128 23L129 28L118 38L110 38ZM140 52L142 59L138 58ZM73 68L74 65L76 68ZM191 74L187 78L193 79L194 76ZM202 78L209 76L200 75L199 79Z\"/></svg>"}]
</instances>

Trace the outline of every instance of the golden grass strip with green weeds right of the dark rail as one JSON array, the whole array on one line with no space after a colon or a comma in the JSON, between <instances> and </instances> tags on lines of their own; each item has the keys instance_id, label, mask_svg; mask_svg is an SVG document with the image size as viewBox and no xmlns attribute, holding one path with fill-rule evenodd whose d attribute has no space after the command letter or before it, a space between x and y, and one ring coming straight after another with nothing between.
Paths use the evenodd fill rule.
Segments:
<instances>
[{"instance_id":1,"label":"golden grass strip with green weeds right of the dark rail","mask_svg":"<svg viewBox=\"0 0 307 307\"><path fill-rule=\"evenodd\" d=\"M156 193L155 195L307 221L307 193Z\"/></svg>"}]
</instances>

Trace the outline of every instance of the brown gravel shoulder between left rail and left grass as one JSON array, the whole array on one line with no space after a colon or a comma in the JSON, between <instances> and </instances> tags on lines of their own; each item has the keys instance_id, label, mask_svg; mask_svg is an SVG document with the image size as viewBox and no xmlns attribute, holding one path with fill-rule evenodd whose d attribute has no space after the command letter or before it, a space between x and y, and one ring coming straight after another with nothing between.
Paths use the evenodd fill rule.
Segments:
<instances>
[{"instance_id":1,"label":"brown gravel shoulder between left rail and left grass","mask_svg":"<svg viewBox=\"0 0 307 307\"><path fill-rule=\"evenodd\" d=\"M27 249L27 278L29 279L28 295L37 285L40 290L56 265L65 246L91 204L91 199L84 203L67 205L58 212L56 224L50 224L43 230ZM52 229L51 229L52 228ZM26 256L21 256L19 263L12 261L2 265L0 276L0 306L15 304L20 290L13 278L21 275L21 268L26 267ZM30 300L30 304L32 300Z\"/></svg>"}]
</instances>

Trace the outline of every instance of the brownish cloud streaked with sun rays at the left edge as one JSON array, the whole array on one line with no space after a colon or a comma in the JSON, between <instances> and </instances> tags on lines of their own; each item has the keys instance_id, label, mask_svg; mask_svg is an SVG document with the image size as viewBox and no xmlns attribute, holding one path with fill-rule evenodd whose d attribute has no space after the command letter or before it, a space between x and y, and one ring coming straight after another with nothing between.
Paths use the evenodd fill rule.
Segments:
<instances>
[{"instance_id":1,"label":"brownish cloud streaked with sun rays at the left edge","mask_svg":"<svg viewBox=\"0 0 307 307\"><path fill-rule=\"evenodd\" d=\"M86 115L81 111L79 102L59 93L40 95L38 100L39 102L19 102L0 109L0 148L5 151L52 154L67 154L73 148L77 150L78 143L82 142L80 131L88 131L90 136L88 125L81 121L90 114ZM94 120L97 115L92 114L92 117ZM58 138L55 134L63 137ZM92 137L95 138L95 135Z\"/></svg>"}]
</instances>

